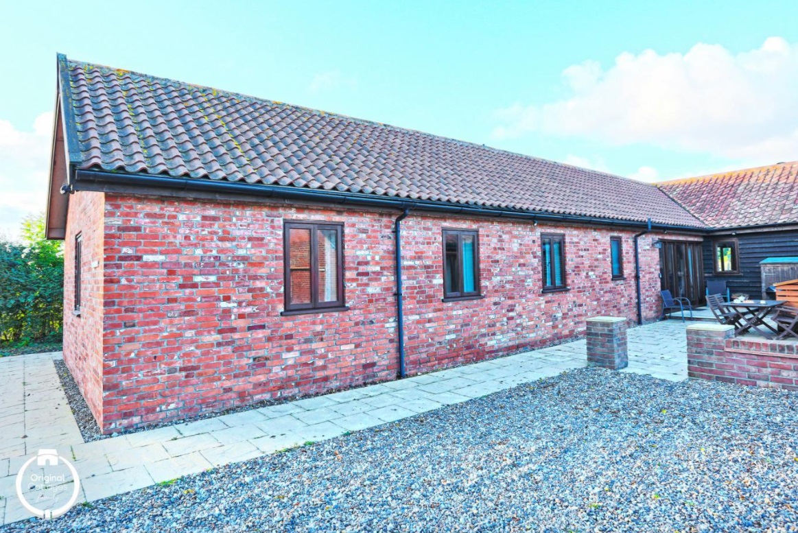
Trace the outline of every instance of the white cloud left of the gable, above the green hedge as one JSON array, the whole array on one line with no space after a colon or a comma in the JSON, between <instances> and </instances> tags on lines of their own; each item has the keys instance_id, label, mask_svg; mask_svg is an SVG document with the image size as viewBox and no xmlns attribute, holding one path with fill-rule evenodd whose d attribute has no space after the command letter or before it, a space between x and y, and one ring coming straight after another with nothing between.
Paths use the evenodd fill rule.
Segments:
<instances>
[{"instance_id":1,"label":"white cloud left of the gable, above the green hedge","mask_svg":"<svg viewBox=\"0 0 798 533\"><path fill-rule=\"evenodd\" d=\"M44 211L53 113L36 117L33 131L0 120L0 233L17 237L22 217Z\"/></svg>"}]
</instances>

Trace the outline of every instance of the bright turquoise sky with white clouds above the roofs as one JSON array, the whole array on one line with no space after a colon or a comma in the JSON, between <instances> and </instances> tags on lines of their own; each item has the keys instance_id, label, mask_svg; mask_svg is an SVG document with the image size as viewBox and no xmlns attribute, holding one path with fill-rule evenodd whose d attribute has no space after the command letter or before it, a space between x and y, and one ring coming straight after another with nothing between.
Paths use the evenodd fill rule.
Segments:
<instances>
[{"instance_id":1,"label":"bright turquoise sky with white clouds above the roofs","mask_svg":"<svg viewBox=\"0 0 798 533\"><path fill-rule=\"evenodd\" d=\"M0 231L55 54L641 180L798 159L798 2L0 2Z\"/></svg>"}]
</instances>

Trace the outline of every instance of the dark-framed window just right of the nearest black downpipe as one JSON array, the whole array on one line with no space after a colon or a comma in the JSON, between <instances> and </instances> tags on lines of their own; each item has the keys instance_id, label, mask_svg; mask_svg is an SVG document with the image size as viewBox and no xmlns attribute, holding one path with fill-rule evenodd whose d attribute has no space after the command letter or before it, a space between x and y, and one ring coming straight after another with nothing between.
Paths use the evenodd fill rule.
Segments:
<instances>
[{"instance_id":1,"label":"dark-framed window just right of the nearest black downpipe","mask_svg":"<svg viewBox=\"0 0 798 533\"><path fill-rule=\"evenodd\" d=\"M480 297L480 243L476 231L444 230L444 301Z\"/></svg>"}]
</instances>

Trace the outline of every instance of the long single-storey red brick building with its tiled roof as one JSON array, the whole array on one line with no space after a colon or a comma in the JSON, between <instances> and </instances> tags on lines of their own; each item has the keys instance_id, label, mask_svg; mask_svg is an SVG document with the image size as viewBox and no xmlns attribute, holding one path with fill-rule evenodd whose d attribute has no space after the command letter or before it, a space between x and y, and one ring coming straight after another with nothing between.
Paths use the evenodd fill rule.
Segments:
<instances>
[{"instance_id":1,"label":"long single-storey red brick building with its tiled roof","mask_svg":"<svg viewBox=\"0 0 798 533\"><path fill-rule=\"evenodd\" d=\"M105 432L654 320L660 243L706 230L619 176L63 56L47 225Z\"/></svg>"}]
</instances>

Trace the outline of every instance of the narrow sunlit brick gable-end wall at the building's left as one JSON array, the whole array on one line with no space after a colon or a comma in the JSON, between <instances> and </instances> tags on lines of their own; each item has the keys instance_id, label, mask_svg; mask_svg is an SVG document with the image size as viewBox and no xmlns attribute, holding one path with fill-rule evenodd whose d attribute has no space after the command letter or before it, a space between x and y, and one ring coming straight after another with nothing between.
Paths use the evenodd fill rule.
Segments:
<instances>
[{"instance_id":1,"label":"narrow sunlit brick gable-end wall at the building's left","mask_svg":"<svg viewBox=\"0 0 798 533\"><path fill-rule=\"evenodd\" d=\"M101 192L69 196L64 247L64 361L102 427L103 206ZM75 235L81 234L81 313L75 304Z\"/></svg>"}]
</instances>

